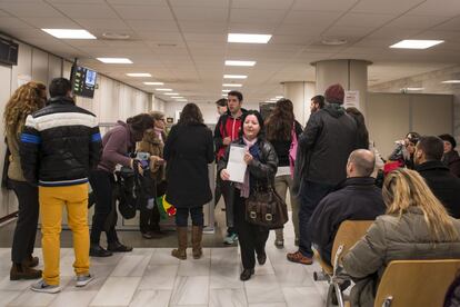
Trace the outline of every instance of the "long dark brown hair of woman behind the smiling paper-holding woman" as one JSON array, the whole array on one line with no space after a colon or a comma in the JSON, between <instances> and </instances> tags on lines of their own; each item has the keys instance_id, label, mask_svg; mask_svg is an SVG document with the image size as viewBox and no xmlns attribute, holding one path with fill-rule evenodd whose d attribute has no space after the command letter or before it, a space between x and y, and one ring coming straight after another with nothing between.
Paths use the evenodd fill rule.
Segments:
<instances>
[{"instance_id":1,"label":"long dark brown hair of woman behind the smiling paper-holding woman","mask_svg":"<svg viewBox=\"0 0 460 307\"><path fill-rule=\"evenodd\" d=\"M294 120L292 101L281 98L266 121L267 139L290 140Z\"/></svg>"}]
</instances>

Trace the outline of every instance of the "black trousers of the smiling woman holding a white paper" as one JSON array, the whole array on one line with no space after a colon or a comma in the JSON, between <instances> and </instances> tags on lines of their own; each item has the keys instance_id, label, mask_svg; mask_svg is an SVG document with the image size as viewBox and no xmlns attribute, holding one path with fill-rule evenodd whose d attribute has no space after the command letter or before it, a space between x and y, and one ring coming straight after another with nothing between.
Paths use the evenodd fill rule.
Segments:
<instances>
[{"instance_id":1,"label":"black trousers of the smiling woman holding a white paper","mask_svg":"<svg viewBox=\"0 0 460 307\"><path fill-rule=\"evenodd\" d=\"M238 240L241 247L241 261L244 269L256 267L256 252L266 252L266 242L269 237L269 229L246 221L244 198L234 195L234 225L238 232Z\"/></svg>"}]
</instances>

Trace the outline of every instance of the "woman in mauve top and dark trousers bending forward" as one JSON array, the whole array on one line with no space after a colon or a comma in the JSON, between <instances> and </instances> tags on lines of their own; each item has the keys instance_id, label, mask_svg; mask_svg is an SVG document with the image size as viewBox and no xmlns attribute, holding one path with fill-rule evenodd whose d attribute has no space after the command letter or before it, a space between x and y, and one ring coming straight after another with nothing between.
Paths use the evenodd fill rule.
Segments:
<instances>
[{"instance_id":1,"label":"woman in mauve top and dark trousers bending forward","mask_svg":"<svg viewBox=\"0 0 460 307\"><path fill-rule=\"evenodd\" d=\"M90 176L90 184L96 196L94 215L92 216L90 256L108 257L117 251L131 251L132 247L122 245L117 236L117 210L113 204L114 177L117 165L133 168L134 160L129 154L134 151L147 129L152 128L153 119L148 113L119 120L102 138L102 159L98 169ZM110 218L109 218L110 216ZM108 248L100 246L101 232L106 231Z\"/></svg>"}]
</instances>

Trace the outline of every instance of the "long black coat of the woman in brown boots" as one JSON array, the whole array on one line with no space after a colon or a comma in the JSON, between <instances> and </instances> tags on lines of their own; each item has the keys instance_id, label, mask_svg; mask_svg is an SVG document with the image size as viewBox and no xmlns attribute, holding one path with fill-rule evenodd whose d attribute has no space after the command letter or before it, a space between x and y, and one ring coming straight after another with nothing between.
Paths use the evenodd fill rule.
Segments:
<instances>
[{"instance_id":1,"label":"long black coat of the woman in brown boots","mask_svg":"<svg viewBox=\"0 0 460 307\"><path fill-rule=\"evenodd\" d=\"M211 130L202 123L176 125L164 143L166 199L177 208L203 206L212 199L208 164L214 159Z\"/></svg>"}]
</instances>

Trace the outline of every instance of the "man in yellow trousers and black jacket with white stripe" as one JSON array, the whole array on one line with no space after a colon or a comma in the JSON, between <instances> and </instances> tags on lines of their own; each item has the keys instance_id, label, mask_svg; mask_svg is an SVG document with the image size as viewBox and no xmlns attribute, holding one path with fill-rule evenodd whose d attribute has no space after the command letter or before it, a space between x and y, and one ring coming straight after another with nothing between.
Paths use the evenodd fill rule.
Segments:
<instances>
[{"instance_id":1,"label":"man in yellow trousers and black jacket with white stripe","mask_svg":"<svg viewBox=\"0 0 460 307\"><path fill-rule=\"evenodd\" d=\"M26 179L39 186L43 279L31 286L40 293L58 293L62 207L73 234L77 287L91 281L89 274L88 176L101 149L96 116L76 106L71 83L56 78L47 107L28 116L21 135L20 156Z\"/></svg>"}]
</instances>

